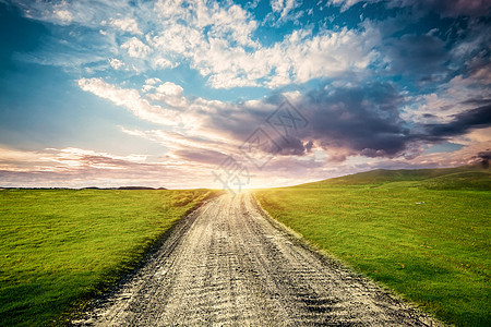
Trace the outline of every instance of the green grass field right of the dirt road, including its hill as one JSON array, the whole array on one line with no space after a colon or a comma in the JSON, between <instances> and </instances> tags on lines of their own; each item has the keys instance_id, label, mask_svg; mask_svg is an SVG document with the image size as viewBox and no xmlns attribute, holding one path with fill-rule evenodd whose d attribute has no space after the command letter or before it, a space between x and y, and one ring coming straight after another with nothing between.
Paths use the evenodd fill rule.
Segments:
<instances>
[{"instance_id":1,"label":"green grass field right of the dirt road, including its hill","mask_svg":"<svg viewBox=\"0 0 491 327\"><path fill-rule=\"evenodd\" d=\"M444 322L491 326L487 170L376 170L258 190L272 217Z\"/></svg>"}]
</instances>

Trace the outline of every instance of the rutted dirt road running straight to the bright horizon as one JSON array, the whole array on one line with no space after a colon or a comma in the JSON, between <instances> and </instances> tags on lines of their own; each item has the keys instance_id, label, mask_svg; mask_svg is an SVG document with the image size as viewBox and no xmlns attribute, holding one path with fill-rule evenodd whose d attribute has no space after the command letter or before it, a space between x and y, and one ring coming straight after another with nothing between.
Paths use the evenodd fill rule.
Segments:
<instances>
[{"instance_id":1,"label":"rutted dirt road running straight to the bright horizon","mask_svg":"<svg viewBox=\"0 0 491 327\"><path fill-rule=\"evenodd\" d=\"M253 196L215 198L183 219L117 292L75 325L432 326L429 317L322 258Z\"/></svg>"}]
</instances>

